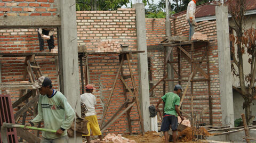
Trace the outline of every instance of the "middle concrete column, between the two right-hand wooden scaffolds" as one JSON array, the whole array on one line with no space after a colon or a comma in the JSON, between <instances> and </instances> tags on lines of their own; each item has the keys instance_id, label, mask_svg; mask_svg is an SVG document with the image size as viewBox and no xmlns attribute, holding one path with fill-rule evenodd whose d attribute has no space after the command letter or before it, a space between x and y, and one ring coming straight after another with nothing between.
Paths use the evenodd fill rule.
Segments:
<instances>
[{"instance_id":1,"label":"middle concrete column, between the two right-hand wooden scaffolds","mask_svg":"<svg viewBox=\"0 0 256 143\"><path fill-rule=\"evenodd\" d=\"M140 81L140 108L144 123L144 130L150 130L149 117L149 81L148 81L148 60L147 60L147 41L146 41L146 22L145 22L145 7L142 3L132 5L136 10L136 26L137 26L137 46L138 51L145 53L138 54L139 62L139 81Z\"/></svg>"}]
</instances>

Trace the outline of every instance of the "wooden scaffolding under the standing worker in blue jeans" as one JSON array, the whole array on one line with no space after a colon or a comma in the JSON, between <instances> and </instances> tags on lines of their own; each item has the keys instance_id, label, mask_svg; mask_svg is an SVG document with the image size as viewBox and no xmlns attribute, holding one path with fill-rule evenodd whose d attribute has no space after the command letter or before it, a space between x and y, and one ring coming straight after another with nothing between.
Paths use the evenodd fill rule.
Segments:
<instances>
[{"instance_id":1,"label":"wooden scaffolding under the standing worker in blue jeans","mask_svg":"<svg viewBox=\"0 0 256 143\"><path fill-rule=\"evenodd\" d=\"M200 47L206 47L205 51L202 51L202 57L201 60L195 60L195 45L201 45ZM164 46L164 69L163 69L163 78L161 80L159 80L157 82L157 84L155 86L153 86L150 91L152 91L157 85L159 85L159 83L161 83L163 81L163 95L166 92L166 81L176 81L179 84L183 81L183 82L187 82L186 84L186 88L181 96L181 102L180 102L180 107L182 105L183 99L186 95L186 92L189 88L190 85L190 100L191 100L191 111L194 111L194 82L207 82L207 90L208 90L208 100L209 100L209 115L210 115L210 125L212 125L212 97L211 97L211 84L210 84L210 68L209 68L209 41L207 40L189 40L189 41L173 41L173 40L169 40L169 38L166 38L165 40L163 40L159 45ZM189 47L191 49L191 52L187 52L185 50L185 46ZM171 61L170 60L170 54L172 53L173 49L177 48L177 55L178 55L178 60L177 61ZM181 77L181 56L183 58L185 58L188 63L190 64L190 74L188 79L183 79ZM206 63L206 72L201 68L202 63ZM174 78L174 79L167 79L167 75L168 73L166 72L166 66L167 64L171 65L171 68L174 72L175 75L177 75L178 78ZM178 71L175 70L174 68L174 64L177 64L178 66ZM203 75L204 78L201 79L194 79L196 73L199 72L200 74ZM204 109L203 112L206 112L208 108ZM191 112L191 115L183 112L182 110L180 110L183 114L185 114L186 116L190 117L193 121L194 119L194 114L193 112Z\"/></svg>"}]
</instances>

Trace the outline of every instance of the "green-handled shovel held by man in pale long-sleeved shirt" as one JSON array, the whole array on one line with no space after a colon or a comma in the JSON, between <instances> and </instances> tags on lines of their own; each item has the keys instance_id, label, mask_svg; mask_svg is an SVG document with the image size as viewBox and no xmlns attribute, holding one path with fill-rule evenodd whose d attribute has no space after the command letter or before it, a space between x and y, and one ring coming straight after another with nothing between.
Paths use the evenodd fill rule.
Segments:
<instances>
[{"instance_id":1,"label":"green-handled shovel held by man in pale long-sleeved shirt","mask_svg":"<svg viewBox=\"0 0 256 143\"><path fill-rule=\"evenodd\" d=\"M1 127L1 139L3 142L8 142L7 140L7 128L24 128L25 125L20 125L20 124L12 124L12 123L3 123ZM26 128L31 129L31 130L38 130L38 131L46 131L46 132L53 132L56 133L57 131L51 130L51 129L44 129L44 128L36 128L36 127L29 127L27 126Z\"/></svg>"}]
</instances>

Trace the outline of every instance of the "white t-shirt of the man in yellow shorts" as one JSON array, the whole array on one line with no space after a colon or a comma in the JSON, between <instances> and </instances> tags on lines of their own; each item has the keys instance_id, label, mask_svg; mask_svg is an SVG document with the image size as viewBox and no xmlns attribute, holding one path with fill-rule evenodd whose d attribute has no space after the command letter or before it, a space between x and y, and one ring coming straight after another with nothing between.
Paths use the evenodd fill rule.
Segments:
<instances>
[{"instance_id":1,"label":"white t-shirt of the man in yellow shorts","mask_svg":"<svg viewBox=\"0 0 256 143\"><path fill-rule=\"evenodd\" d=\"M85 93L81 95L81 102L84 103L88 109L88 112L85 113L85 116L96 115L95 104L96 97L91 93Z\"/></svg>"}]
</instances>

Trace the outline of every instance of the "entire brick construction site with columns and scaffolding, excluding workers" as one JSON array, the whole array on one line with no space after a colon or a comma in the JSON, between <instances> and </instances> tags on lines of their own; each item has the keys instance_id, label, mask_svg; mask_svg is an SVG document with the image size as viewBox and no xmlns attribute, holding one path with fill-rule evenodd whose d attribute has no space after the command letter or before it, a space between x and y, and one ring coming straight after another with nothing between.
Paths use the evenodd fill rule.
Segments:
<instances>
[{"instance_id":1,"label":"entire brick construction site with columns and scaffolding, excluding workers","mask_svg":"<svg viewBox=\"0 0 256 143\"><path fill-rule=\"evenodd\" d=\"M256 2L245 3L246 28L255 28ZM157 107L175 85L183 90L178 110L185 117L178 116L178 142L255 141L255 101L249 123L239 92L243 87L231 68L239 61L231 54L235 22L228 10L225 1L196 6L197 24L189 39L186 11L155 19L145 18L143 3L115 11L76 11L75 0L0 1L0 143L39 143L43 132L58 132L45 128L45 117L25 130L43 106L42 89L34 87L42 76L76 114L69 142L88 142L76 131L83 128L77 121L86 121L89 106L81 103L81 95L88 85L102 133L99 140L89 129L90 142L166 142L161 131L165 105L159 104L153 117L149 107ZM40 29L50 32L42 35ZM251 70L243 68L246 74ZM167 132L168 142L175 142Z\"/></svg>"}]
</instances>

